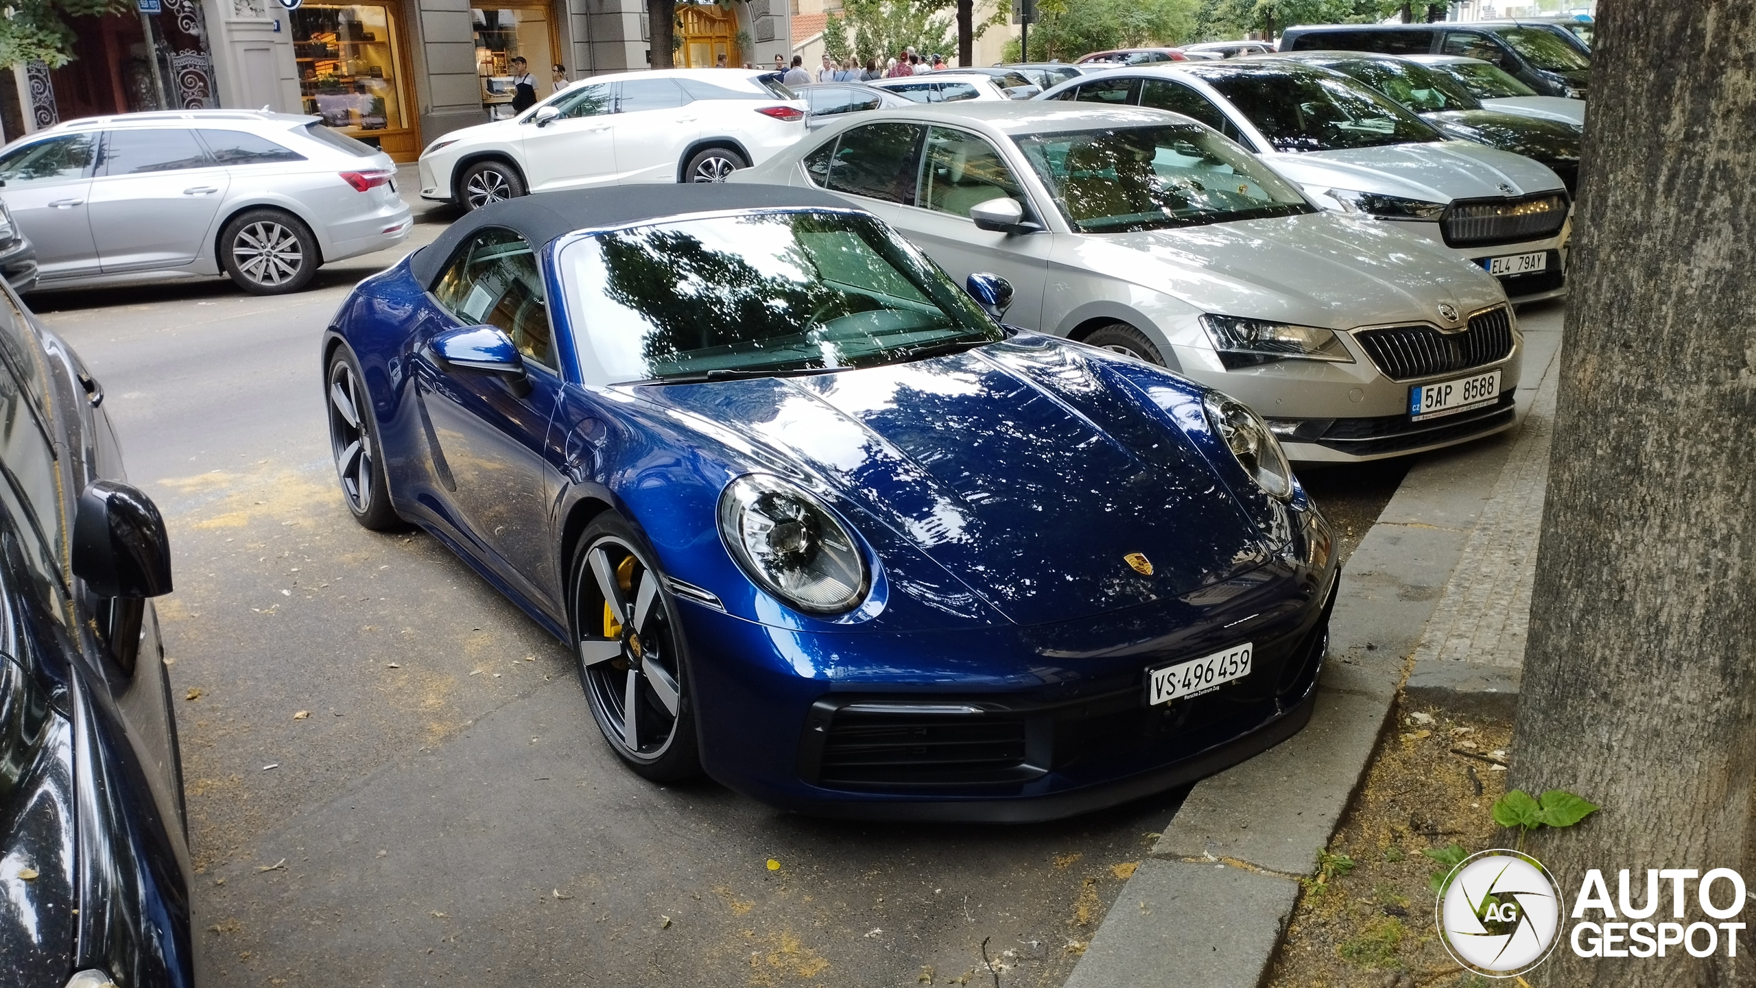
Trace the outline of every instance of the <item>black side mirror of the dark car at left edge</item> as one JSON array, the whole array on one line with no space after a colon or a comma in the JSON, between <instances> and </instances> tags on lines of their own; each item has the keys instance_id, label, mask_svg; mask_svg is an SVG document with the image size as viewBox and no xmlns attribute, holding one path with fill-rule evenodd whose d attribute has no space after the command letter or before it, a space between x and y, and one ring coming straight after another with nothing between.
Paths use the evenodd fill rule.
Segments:
<instances>
[{"instance_id":1,"label":"black side mirror of the dark car at left edge","mask_svg":"<svg viewBox=\"0 0 1756 988\"><path fill-rule=\"evenodd\" d=\"M170 539L153 498L121 481L93 481L74 514L74 576L98 597L170 593Z\"/></svg>"}]
</instances>

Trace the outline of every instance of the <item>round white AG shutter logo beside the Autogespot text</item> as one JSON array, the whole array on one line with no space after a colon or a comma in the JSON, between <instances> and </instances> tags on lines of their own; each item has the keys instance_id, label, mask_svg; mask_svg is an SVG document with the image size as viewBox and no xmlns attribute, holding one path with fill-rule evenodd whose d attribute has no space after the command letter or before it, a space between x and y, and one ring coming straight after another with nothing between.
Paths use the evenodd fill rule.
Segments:
<instances>
[{"instance_id":1,"label":"round white AG shutter logo beside the Autogespot text","mask_svg":"<svg viewBox=\"0 0 1756 988\"><path fill-rule=\"evenodd\" d=\"M1536 967L1554 949L1561 888L1536 858L1482 851L1449 876L1436 906L1438 937L1457 963L1489 977Z\"/></svg>"}]
</instances>

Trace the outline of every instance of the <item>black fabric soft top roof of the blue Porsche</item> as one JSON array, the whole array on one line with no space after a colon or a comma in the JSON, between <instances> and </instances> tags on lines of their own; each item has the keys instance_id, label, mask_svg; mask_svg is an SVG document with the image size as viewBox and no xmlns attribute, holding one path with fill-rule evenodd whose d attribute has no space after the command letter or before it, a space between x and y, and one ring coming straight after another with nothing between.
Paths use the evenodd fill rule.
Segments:
<instances>
[{"instance_id":1,"label":"black fabric soft top roof of the blue Porsche","mask_svg":"<svg viewBox=\"0 0 1756 988\"><path fill-rule=\"evenodd\" d=\"M457 246L485 226L516 230L543 249L550 240L592 226L632 226L685 212L718 209L785 209L820 205L848 209L829 193L746 183L634 184L578 191L546 191L485 205L465 214L409 258L409 270L432 284Z\"/></svg>"}]
</instances>

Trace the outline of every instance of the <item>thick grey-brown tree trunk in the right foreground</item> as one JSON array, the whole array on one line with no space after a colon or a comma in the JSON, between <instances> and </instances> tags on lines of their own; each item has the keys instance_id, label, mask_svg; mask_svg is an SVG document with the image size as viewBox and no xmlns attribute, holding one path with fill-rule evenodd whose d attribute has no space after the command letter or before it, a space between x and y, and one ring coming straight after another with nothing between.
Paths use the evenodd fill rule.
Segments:
<instances>
[{"instance_id":1,"label":"thick grey-brown tree trunk in the right foreground","mask_svg":"<svg viewBox=\"0 0 1756 988\"><path fill-rule=\"evenodd\" d=\"M1603 807L1528 844L1568 911L1586 869L1635 902L1645 869L1756 877L1756 7L1603 4L1593 61L1512 765ZM1714 921L1693 883L1684 911ZM1570 930L1549 984L1740 984L1756 949L1582 960Z\"/></svg>"}]
</instances>

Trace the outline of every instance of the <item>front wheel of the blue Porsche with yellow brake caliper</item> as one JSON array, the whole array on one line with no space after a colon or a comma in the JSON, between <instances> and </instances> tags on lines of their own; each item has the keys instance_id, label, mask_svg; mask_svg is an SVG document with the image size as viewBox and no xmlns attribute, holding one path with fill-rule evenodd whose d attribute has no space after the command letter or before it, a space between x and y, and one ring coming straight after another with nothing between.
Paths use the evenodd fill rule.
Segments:
<instances>
[{"instance_id":1,"label":"front wheel of the blue Porsche with yellow brake caliper","mask_svg":"<svg viewBox=\"0 0 1756 988\"><path fill-rule=\"evenodd\" d=\"M579 686L604 741L653 783L701 774L688 649L646 541L606 511L579 535L569 572Z\"/></svg>"}]
</instances>

